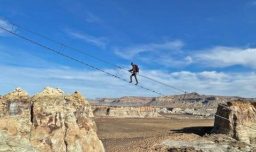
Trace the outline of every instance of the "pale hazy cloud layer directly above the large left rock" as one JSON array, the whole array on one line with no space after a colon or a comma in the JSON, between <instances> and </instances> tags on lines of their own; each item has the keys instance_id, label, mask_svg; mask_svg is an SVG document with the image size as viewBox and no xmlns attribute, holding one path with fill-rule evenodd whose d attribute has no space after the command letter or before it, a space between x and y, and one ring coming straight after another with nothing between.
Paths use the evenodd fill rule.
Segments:
<instances>
[{"instance_id":1,"label":"pale hazy cloud layer directly above the large left rock","mask_svg":"<svg viewBox=\"0 0 256 152\"><path fill-rule=\"evenodd\" d=\"M6 94L16 87L21 87L33 95L36 92L40 92L46 86L61 87L67 93L78 90L85 94L86 98L140 94L133 91L135 86L100 71L14 66L0 66L0 69L4 71L0 74L0 94ZM107 71L110 73L116 72L112 72L111 69ZM127 80L130 76L124 73L121 73L121 75L126 77ZM145 92L145 94L141 95L150 95L149 92Z\"/></svg>"}]
</instances>

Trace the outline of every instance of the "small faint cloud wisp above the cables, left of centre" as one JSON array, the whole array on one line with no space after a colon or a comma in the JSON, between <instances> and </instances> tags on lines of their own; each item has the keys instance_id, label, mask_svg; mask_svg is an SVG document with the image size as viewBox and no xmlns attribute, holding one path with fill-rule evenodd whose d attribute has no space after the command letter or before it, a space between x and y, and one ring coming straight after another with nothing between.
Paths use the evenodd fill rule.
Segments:
<instances>
[{"instance_id":1,"label":"small faint cloud wisp above the cables, left of centre","mask_svg":"<svg viewBox=\"0 0 256 152\"><path fill-rule=\"evenodd\" d=\"M66 29L65 31L72 38L80 39L80 40L82 40L86 43L96 45L96 46L101 47L103 49L108 44L107 38L105 38L105 37L95 37L95 36L79 33L77 31L73 31L73 30L69 30L69 29Z\"/></svg>"}]
</instances>

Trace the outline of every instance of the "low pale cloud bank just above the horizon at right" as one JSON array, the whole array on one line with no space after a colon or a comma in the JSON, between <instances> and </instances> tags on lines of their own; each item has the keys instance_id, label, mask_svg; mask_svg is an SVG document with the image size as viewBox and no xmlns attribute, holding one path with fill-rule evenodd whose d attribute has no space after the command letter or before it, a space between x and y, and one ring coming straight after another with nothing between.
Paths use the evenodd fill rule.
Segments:
<instances>
[{"instance_id":1,"label":"low pale cloud bank just above the horizon at right","mask_svg":"<svg viewBox=\"0 0 256 152\"><path fill-rule=\"evenodd\" d=\"M180 71L171 74L174 84L184 89L201 94L232 95L240 97L255 97L255 73L218 73L216 71L203 71L192 73ZM251 84L252 83L252 84Z\"/></svg>"}]
</instances>

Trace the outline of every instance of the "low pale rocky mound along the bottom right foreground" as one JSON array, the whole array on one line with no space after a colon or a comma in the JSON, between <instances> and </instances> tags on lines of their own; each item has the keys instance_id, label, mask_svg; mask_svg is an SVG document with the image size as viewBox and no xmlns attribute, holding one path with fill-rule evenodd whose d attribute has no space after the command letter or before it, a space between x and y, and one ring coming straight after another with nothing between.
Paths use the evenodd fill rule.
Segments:
<instances>
[{"instance_id":1,"label":"low pale rocky mound along the bottom right foreground","mask_svg":"<svg viewBox=\"0 0 256 152\"><path fill-rule=\"evenodd\" d=\"M161 145L155 146L155 151L176 152L252 152L255 150L255 146L237 141L225 134L206 134L204 137L193 140L164 140Z\"/></svg>"}]
</instances>

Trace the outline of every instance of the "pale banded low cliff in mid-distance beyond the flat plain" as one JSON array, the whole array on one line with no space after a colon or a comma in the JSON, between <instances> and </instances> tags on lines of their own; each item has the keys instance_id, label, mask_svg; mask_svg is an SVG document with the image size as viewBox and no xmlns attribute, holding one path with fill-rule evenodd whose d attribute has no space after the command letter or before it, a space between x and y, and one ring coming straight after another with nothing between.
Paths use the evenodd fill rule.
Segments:
<instances>
[{"instance_id":1,"label":"pale banded low cliff in mid-distance beyond the flat plain","mask_svg":"<svg viewBox=\"0 0 256 152\"><path fill-rule=\"evenodd\" d=\"M92 106L94 115L111 116L118 118L154 118L159 117L157 108L152 106L139 107L110 107L110 106Z\"/></svg>"}]
</instances>

